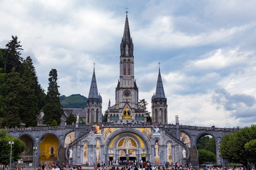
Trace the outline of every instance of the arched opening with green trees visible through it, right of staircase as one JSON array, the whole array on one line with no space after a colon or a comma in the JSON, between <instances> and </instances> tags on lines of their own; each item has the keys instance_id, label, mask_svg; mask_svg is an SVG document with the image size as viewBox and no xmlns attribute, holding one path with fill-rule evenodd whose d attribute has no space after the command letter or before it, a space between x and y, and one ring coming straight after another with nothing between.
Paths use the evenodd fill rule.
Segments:
<instances>
[{"instance_id":1,"label":"arched opening with green trees visible through it, right of staircase","mask_svg":"<svg viewBox=\"0 0 256 170\"><path fill-rule=\"evenodd\" d=\"M216 141L211 135L202 135L196 142L199 164L216 164Z\"/></svg>"}]
</instances>

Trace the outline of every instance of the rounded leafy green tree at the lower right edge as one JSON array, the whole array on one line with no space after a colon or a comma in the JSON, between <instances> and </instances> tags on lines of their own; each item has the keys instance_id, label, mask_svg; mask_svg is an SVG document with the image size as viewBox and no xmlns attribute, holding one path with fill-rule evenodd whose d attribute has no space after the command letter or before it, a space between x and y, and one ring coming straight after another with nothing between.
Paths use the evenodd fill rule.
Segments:
<instances>
[{"instance_id":1,"label":"rounded leafy green tree at the lower right edge","mask_svg":"<svg viewBox=\"0 0 256 170\"><path fill-rule=\"evenodd\" d=\"M247 164L247 160L251 163L255 162L255 154L253 149L256 139L256 125L244 127L230 135L225 135L220 143L220 154L223 159L230 162L237 162L243 165Z\"/></svg>"}]
</instances>

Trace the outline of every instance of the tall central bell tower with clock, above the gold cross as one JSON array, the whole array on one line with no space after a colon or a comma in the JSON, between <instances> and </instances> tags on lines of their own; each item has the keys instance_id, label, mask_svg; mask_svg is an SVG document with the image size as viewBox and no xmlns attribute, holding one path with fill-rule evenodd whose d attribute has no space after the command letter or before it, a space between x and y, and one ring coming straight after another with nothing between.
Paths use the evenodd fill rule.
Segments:
<instances>
[{"instance_id":1,"label":"tall central bell tower with clock, above the gold cross","mask_svg":"<svg viewBox=\"0 0 256 170\"><path fill-rule=\"evenodd\" d=\"M124 35L120 43L120 76L116 87L116 104L108 106L108 121L117 121L124 115L146 121L146 109L138 105L138 87L134 79L133 43L130 35L128 11L124 24ZM139 112L139 113L138 113ZM126 115L126 116L127 116Z\"/></svg>"}]
</instances>

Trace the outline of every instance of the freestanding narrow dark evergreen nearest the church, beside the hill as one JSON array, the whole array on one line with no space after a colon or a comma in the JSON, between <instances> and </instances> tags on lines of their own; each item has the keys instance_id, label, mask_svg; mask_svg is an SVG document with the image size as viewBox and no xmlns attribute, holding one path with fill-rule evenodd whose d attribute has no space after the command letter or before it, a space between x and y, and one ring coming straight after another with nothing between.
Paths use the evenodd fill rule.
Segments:
<instances>
[{"instance_id":1,"label":"freestanding narrow dark evergreen nearest the church, beside the hill","mask_svg":"<svg viewBox=\"0 0 256 170\"><path fill-rule=\"evenodd\" d=\"M58 84L57 84L57 70L52 69L49 73L50 78L49 80L49 87L46 94L46 104L43 107L44 110L44 124L50 125L53 120L57 121L57 124L60 124L60 118L64 113L63 109L61 108L60 104L60 93L58 91Z\"/></svg>"}]
</instances>

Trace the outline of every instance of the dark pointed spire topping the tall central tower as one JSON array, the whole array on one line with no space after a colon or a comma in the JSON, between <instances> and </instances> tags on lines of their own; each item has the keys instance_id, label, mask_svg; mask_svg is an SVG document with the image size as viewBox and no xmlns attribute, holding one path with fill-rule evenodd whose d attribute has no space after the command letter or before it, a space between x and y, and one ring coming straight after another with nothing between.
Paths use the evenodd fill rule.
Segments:
<instances>
[{"instance_id":1,"label":"dark pointed spire topping the tall central tower","mask_svg":"<svg viewBox=\"0 0 256 170\"><path fill-rule=\"evenodd\" d=\"M128 15L126 11L126 20L125 20L125 25L124 25L124 35L122 37L121 45L120 45L120 52L121 56L133 56L133 43L132 43L132 38L130 35L130 27L129 27L129 22L128 22Z\"/></svg>"}]
</instances>

